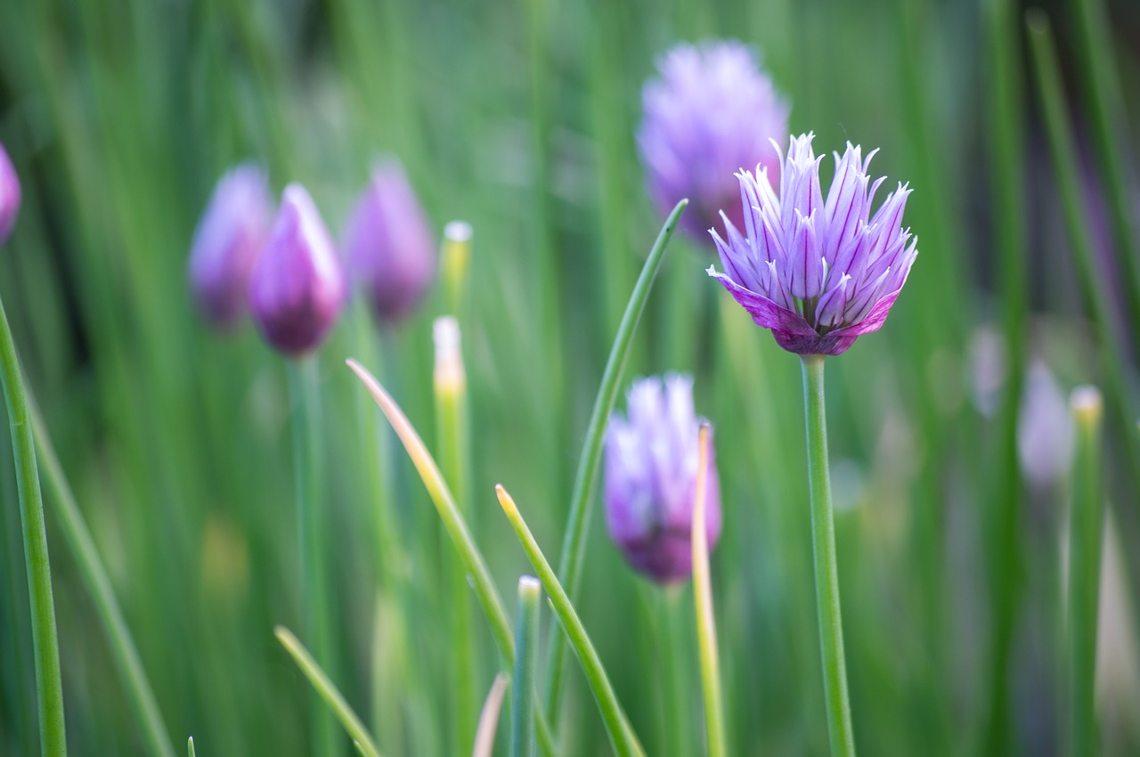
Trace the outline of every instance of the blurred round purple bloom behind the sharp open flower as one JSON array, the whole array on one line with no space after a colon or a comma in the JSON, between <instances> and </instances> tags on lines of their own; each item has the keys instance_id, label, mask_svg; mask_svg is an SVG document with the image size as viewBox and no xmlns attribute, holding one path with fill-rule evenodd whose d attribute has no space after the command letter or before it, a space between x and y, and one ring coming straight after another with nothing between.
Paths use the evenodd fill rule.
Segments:
<instances>
[{"instance_id":1,"label":"blurred round purple bloom behind the sharp open flower","mask_svg":"<svg viewBox=\"0 0 1140 757\"><path fill-rule=\"evenodd\" d=\"M705 230L719 210L743 220L736 171L760 163L780 181L769 140L788 133L788 105L741 42L678 44L658 68L661 78L642 91L637 131L650 192L662 213L689 197L681 227L708 244Z\"/></svg>"}]
</instances>

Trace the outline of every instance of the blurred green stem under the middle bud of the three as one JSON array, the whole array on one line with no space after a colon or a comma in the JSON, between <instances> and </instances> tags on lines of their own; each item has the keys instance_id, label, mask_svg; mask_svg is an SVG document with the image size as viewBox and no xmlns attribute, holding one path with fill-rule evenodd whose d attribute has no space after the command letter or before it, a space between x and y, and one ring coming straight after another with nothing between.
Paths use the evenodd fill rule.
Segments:
<instances>
[{"instance_id":1,"label":"blurred green stem under the middle bud of the three","mask_svg":"<svg viewBox=\"0 0 1140 757\"><path fill-rule=\"evenodd\" d=\"M296 519L301 562L301 613L306 634L312 638L317 660L332 667L327 578L327 519L321 502L324 442L320 438L320 392L314 357L290 361L293 399L293 466L296 472ZM312 754L332 757L340 752L336 730L324 707L312 708Z\"/></svg>"}]
</instances>

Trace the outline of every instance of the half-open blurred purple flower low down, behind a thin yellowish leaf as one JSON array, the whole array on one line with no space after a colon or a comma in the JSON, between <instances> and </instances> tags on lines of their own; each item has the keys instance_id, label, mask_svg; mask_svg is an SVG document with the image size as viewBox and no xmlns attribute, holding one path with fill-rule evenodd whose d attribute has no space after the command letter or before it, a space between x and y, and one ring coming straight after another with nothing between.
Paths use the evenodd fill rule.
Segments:
<instances>
[{"instance_id":1,"label":"half-open blurred purple flower low down, behind a thin yellowish leaf","mask_svg":"<svg viewBox=\"0 0 1140 757\"><path fill-rule=\"evenodd\" d=\"M605 432L605 520L629 563L667 584L692 573L693 503L699 456L693 380L642 378L628 394L628 418ZM720 483L709 438L706 483L709 550L720 536Z\"/></svg>"}]
</instances>

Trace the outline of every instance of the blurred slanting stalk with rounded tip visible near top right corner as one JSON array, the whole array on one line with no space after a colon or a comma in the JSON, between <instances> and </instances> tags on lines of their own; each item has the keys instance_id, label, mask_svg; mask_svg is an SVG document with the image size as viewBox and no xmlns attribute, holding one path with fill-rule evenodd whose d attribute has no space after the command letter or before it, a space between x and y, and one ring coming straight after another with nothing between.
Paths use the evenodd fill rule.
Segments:
<instances>
[{"instance_id":1,"label":"blurred slanting stalk with rounded tip visible near top right corner","mask_svg":"<svg viewBox=\"0 0 1140 757\"><path fill-rule=\"evenodd\" d=\"M1045 127L1049 132L1049 150L1052 156L1053 171L1057 174L1057 189L1060 193L1065 229L1069 247L1074 253L1085 307L1089 308L1097 327L1108 399L1126 417L1137 417L1134 405L1129 399L1124 361L1117 358L1117 350L1122 349L1126 341L1118 320L1108 308L1109 298L1105 296L1105 293L1109 291L1109 287L1093 255L1092 233L1081 202L1076 148L1074 147L1073 130L1066 116L1068 111L1061 91L1060 72L1049 19L1040 10L1029 10L1025 15L1025 24L1029 31L1037 91L1041 95ZM1124 433L1122 437L1125 457L1129 461L1124 467L1131 473L1133 485L1140 486L1140 440L1131 433Z\"/></svg>"}]
</instances>

